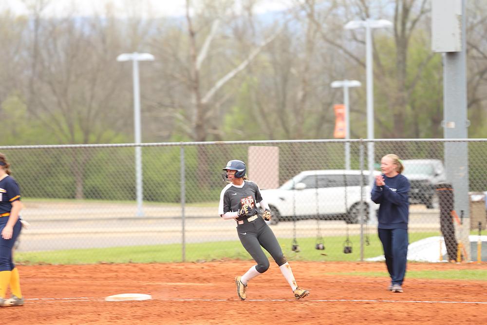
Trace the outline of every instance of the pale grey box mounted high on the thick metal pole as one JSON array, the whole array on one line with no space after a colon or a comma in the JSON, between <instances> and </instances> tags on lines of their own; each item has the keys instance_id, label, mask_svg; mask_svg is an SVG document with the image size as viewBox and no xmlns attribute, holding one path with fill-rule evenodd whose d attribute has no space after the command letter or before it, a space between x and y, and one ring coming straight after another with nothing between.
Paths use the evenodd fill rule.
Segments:
<instances>
[{"instance_id":1,"label":"pale grey box mounted high on the thick metal pole","mask_svg":"<svg viewBox=\"0 0 487 325\"><path fill-rule=\"evenodd\" d=\"M462 51L462 0L431 0L431 50Z\"/></svg>"}]
</instances>

